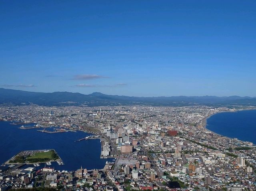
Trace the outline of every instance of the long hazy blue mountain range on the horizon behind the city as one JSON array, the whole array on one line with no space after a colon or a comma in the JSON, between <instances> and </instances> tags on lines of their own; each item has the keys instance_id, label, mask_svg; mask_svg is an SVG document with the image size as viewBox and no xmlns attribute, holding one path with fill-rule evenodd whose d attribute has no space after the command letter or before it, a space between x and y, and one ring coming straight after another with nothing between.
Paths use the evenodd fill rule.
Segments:
<instances>
[{"instance_id":1,"label":"long hazy blue mountain range on the horizon behind the city","mask_svg":"<svg viewBox=\"0 0 256 191\"><path fill-rule=\"evenodd\" d=\"M256 106L255 97L240 96L160 96L160 97L134 97L106 95L92 93L84 95L81 93L53 92L39 93L0 88L0 104L2 105L24 105L38 104L42 106L65 106L65 105L87 105L87 106L114 106L114 105L152 105L152 106L185 106L185 105L252 105Z\"/></svg>"}]
</instances>

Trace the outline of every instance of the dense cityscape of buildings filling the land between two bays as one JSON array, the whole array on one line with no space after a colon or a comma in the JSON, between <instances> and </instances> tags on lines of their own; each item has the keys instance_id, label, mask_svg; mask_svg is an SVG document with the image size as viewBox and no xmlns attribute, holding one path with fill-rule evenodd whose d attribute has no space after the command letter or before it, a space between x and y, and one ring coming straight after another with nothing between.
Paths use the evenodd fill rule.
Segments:
<instances>
[{"instance_id":1,"label":"dense cityscape of buildings filling the land between two bays","mask_svg":"<svg viewBox=\"0 0 256 191\"><path fill-rule=\"evenodd\" d=\"M248 108L2 106L0 120L16 123L24 131L43 128L47 133L54 126L59 128L55 133L90 132L94 136L85 139L101 140L98 157L111 160L103 169L81 166L73 171L47 166L36 170L23 167L29 163L26 159L12 161L0 166L0 191L33 187L81 191L255 190L255 145L205 128L209 116L240 109ZM31 123L37 125L28 126Z\"/></svg>"}]
</instances>

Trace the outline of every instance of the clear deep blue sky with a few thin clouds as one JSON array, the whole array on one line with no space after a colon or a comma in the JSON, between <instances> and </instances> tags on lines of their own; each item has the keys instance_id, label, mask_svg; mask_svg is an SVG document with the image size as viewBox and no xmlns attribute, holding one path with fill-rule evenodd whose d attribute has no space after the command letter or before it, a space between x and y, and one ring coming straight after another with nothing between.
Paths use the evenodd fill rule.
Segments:
<instances>
[{"instance_id":1,"label":"clear deep blue sky with a few thin clouds","mask_svg":"<svg viewBox=\"0 0 256 191\"><path fill-rule=\"evenodd\" d=\"M256 1L0 1L0 86L256 96Z\"/></svg>"}]
</instances>

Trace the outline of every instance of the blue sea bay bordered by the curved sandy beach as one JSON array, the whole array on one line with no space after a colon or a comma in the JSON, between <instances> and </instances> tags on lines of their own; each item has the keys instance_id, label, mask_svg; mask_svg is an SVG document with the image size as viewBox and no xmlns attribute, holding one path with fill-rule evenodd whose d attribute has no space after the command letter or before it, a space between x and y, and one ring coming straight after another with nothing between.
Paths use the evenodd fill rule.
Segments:
<instances>
[{"instance_id":1,"label":"blue sea bay bordered by the curved sandy beach","mask_svg":"<svg viewBox=\"0 0 256 191\"><path fill-rule=\"evenodd\" d=\"M206 128L223 136L256 144L256 110L214 114L207 119Z\"/></svg>"}]
</instances>

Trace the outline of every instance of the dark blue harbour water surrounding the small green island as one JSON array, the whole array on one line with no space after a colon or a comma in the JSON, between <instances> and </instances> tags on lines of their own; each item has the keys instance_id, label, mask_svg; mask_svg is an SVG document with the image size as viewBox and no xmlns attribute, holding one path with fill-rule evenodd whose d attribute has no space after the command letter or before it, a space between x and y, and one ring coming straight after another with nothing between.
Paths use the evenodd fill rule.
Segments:
<instances>
[{"instance_id":1,"label":"dark blue harbour water surrounding the small green island","mask_svg":"<svg viewBox=\"0 0 256 191\"><path fill-rule=\"evenodd\" d=\"M91 134L82 131L50 134L37 131L43 130L43 128L24 130L18 128L21 125L10 123L0 121L0 164L22 150L46 149L56 150L64 162L64 165L58 165L57 162L47 165L47 167L54 167L56 170L73 171L81 168L81 165L87 169L102 169L106 161L112 161L112 158L100 158L101 144L99 139L75 142ZM43 163L37 169L44 165Z\"/></svg>"}]
</instances>

